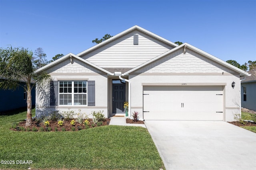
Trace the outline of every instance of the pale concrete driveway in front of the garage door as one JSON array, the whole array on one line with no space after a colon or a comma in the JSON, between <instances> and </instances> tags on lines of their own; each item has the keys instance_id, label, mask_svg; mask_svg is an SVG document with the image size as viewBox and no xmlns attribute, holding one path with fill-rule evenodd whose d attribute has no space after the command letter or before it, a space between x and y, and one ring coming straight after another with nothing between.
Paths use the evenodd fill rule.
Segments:
<instances>
[{"instance_id":1,"label":"pale concrete driveway in front of the garage door","mask_svg":"<svg viewBox=\"0 0 256 170\"><path fill-rule=\"evenodd\" d=\"M256 170L256 133L224 121L145 121L166 170Z\"/></svg>"}]
</instances>

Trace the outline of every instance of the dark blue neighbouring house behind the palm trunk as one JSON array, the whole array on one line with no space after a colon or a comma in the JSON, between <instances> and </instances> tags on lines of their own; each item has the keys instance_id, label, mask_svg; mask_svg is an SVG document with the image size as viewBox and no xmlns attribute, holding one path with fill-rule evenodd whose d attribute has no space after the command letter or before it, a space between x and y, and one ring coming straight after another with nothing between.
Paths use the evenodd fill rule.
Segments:
<instances>
[{"instance_id":1,"label":"dark blue neighbouring house behind the palm trunk","mask_svg":"<svg viewBox=\"0 0 256 170\"><path fill-rule=\"evenodd\" d=\"M27 94L24 88L22 88L21 86L26 86L26 83L20 82L20 86L18 86L16 90L0 89L0 113L27 106ZM31 95L32 95L32 106L35 106L36 104L35 88L32 89Z\"/></svg>"}]
</instances>

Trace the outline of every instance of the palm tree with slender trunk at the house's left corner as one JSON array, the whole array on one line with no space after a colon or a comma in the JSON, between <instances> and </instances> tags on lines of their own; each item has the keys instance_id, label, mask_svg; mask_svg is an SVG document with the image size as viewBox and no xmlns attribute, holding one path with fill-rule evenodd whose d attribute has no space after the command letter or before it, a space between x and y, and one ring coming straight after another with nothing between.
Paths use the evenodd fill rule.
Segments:
<instances>
[{"instance_id":1,"label":"palm tree with slender trunk at the house's left corner","mask_svg":"<svg viewBox=\"0 0 256 170\"><path fill-rule=\"evenodd\" d=\"M25 82L26 86L21 86L27 93L27 119L26 126L32 125L32 102L31 89L35 84L42 83L44 80L50 79L50 75L43 73L34 75L34 65L32 58L32 51L28 49L0 48L0 88L15 90L20 85L20 81ZM31 85L32 80L36 83Z\"/></svg>"}]
</instances>

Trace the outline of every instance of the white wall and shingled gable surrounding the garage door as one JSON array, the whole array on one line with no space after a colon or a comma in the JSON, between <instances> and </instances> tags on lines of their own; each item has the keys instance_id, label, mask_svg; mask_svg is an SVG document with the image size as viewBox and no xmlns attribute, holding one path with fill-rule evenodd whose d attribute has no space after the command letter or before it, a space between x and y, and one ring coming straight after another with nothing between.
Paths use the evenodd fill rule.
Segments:
<instances>
[{"instance_id":1,"label":"white wall and shingled gable surrounding the garage door","mask_svg":"<svg viewBox=\"0 0 256 170\"><path fill-rule=\"evenodd\" d=\"M148 64L147 66L129 75L131 81L131 111L143 109L143 86L142 83L173 83L223 85L223 108L224 121L233 121L234 114L240 114L240 76L234 74L228 68L206 59L193 51L188 50L183 54L179 50L171 55ZM236 86L232 88L232 82Z\"/></svg>"}]
</instances>

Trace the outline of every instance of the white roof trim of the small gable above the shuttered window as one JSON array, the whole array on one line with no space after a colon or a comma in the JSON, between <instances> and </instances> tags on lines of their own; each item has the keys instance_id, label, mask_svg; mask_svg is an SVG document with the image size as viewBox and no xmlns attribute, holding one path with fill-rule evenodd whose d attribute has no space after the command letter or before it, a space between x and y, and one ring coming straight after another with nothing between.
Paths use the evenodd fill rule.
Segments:
<instances>
[{"instance_id":1,"label":"white roof trim of the small gable above the shuttered window","mask_svg":"<svg viewBox=\"0 0 256 170\"><path fill-rule=\"evenodd\" d=\"M56 61L53 61L52 63L47 64L46 66L43 66L42 68L39 68L39 69L36 70L34 73L38 73L38 72L44 71L44 70L46 70L47 68L50 68L50 67L54 66L55 64L58 64L58 63L60 63L60 62L62 62L62 61L64 61L64 60L70 58L70 56L72 56L72 57L74 57L75 59L77 59L77 60L79 60L79 61L82 61L83 63L86 63L86 64L88 64L88 65L90 65L90 66L92 66L92 67L94 67L94 68L97 68L98 70L101 70L102 72L105 72L105 73L107 73L107 74L113 75L111 72L105 70L104 68L101 68L101 67L99 67L99 66L97 66L97 65L95 65L95 64L92 64L92 63L90 63L89 61L86 61L86 60L82 59L81 57L78 57L78 56L76 56L76 55L74 55L74 54L72 54L72 53L69 53L69 54L67 54L67 55L65 55L65 56L63 56L63 57L61 57L60 59L58 59L58 60L56 60Z\"/></svg>"}]
</instances>

